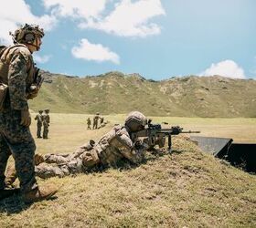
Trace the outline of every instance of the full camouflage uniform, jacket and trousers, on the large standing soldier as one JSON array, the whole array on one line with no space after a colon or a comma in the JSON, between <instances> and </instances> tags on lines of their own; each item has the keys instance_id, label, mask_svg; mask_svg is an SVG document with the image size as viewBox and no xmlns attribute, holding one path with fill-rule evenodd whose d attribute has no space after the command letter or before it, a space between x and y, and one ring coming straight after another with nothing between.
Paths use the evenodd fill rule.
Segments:
<instances>
[{"instance_id":1,"label":"full camouflage uniform, jacket and trousers, on the large standing soldier","mask_svg":"<svg viewBox=\"0 0 256 228\"><path fill-rule=\"evenodd\" d=\"M34 172L36 145L29 128L20 125L21 110L28 109L27 90L34 80L34 62L25 45L8 47L0 61L0 81L8 85L5 109L0 112L0 188L12 154L22 192L37 189Z\"/></svg>"}]
</instances>

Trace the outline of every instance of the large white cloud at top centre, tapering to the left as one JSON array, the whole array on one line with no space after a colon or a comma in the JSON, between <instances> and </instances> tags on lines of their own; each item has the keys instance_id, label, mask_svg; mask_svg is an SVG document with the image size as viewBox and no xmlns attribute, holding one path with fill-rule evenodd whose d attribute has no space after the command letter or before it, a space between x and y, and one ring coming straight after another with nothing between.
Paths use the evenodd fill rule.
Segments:
<instances>
[{"instance_id":1,"label":"large white cloud at top centre, tapering to the left","mask_svg":"<svg viewBox=\"0 0 256 228\"><path fill-rule=\"evenodd\" d=\"M149 20L161 15L165 15L165 10L160 0L123 0L115 5L109 16L81 23L80 27L99 29L117 36L156 35L161 29Z\"/></svg>"}]
</instances>

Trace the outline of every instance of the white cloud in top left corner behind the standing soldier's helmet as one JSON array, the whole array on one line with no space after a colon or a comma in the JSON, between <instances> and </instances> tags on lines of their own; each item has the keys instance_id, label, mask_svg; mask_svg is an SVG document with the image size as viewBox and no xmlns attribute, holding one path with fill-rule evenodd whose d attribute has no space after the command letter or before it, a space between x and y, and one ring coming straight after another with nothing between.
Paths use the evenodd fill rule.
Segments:
<instances>
[{"instance_id":1,"label":"white cloud in top left corner behind the standing soldier's helmet","mask_svg":"<svg viewBox=\"0 0 256 228\"><path fill-rule=\"evenodd\" d=\"M34 16L30 6L25 0L7 0L1 2L0 7L0 39L4 44L11 44L12 38L9 31L14 32L18 25L37 24L46 31L56 25L54 16Z\"/></svg>"}]
</instances>

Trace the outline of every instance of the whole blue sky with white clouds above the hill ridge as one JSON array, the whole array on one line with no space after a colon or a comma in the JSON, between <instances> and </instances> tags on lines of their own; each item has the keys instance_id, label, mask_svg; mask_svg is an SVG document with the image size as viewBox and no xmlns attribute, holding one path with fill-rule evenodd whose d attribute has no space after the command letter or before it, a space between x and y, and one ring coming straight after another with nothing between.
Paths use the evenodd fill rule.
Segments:
<instances>
[{"instance_id":1,"label":"whole blue sky with white clouds above the hill ridge","mask_svg":"<svg viewBox=\"0 0 256 228\"><path fill-rule=\"evenodd\" d=\"M255 0L1 2L1 43L11 44L19 24L43 26L35 59L53 73L256 79Z\"/></svg>"}]
</instances>

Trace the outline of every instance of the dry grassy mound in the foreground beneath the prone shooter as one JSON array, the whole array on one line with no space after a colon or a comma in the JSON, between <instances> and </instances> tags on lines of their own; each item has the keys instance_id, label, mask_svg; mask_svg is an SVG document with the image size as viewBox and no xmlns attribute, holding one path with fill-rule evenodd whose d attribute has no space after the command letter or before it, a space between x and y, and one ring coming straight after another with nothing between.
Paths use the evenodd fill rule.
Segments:
<instances>
[{"instance_id":1,"label":"dry grassy mound in the foreground beneath the prone shooter","mask_svg":"<svg viewBox=\"0 0 256 228\"><path fill-rule=\"evenodd\" d=\"M256 177L186 137L137 167L52 178L58 198L0 202L0 227L256 227Z\"/></svg>"}]
</instances>

